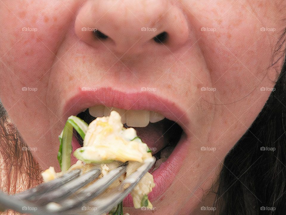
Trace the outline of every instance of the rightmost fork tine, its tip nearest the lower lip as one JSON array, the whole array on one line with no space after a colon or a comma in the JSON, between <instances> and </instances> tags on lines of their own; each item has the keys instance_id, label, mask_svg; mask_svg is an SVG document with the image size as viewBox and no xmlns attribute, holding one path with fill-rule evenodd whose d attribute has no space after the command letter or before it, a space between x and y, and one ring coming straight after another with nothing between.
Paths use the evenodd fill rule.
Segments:
<instances>
[{"instance_id":1,"label":"rightmost fork tine, its tip nearest the lower lip","mask_svg":"<svg viewBox=\"0 0 286 215\"><path fill-rule=\"evenodd\" d=\"M80 209L76 210L77 214L90 214L90 215L101 215L111 211L116 205L130 193L133 188L138 184L140 179L147 173L147 171L154 165L156 159L154 157L146 159L143 165L141 165L135 172L128 176L120 185L113 188L108 193L102 193L97 196L94 200L88 203L89 207L95 208L91 211L83 211ZM51 209L49 207L47 210ZM60 214L71 214L75 210L67 210L60 212Z\"/></svg>"}]
</instances>

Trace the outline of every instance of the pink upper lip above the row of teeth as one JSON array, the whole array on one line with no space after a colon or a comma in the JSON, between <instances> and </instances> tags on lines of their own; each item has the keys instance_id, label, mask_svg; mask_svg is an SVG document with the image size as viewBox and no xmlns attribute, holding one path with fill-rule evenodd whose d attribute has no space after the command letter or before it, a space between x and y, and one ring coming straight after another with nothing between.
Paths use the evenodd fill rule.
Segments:
<instances>
[{"instance_id":1,"label":"pink upper lip above the row of teeth","mask_svg":"<svg viewBox=\"0 0 286 215\"><path fill-rule=\"evenodd\" d=\"M94 91L83 91L79 87L78 93L71 96L64 104L63 117L67 119L71 115L76 116L86 108L96 105L125 110L152 110L176 122L183 130L185 125L188 125L185 112L175 102L155 95L154 92L127 93L111 87L103 87Z\"/></svg>"}]
</instances>

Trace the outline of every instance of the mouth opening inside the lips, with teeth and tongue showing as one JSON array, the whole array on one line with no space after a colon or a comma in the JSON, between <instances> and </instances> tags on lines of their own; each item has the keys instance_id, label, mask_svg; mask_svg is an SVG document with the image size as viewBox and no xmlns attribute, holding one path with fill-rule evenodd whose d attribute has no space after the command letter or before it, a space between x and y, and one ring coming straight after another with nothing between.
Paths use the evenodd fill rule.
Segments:
<instances>
[{"instance_id":1,"label":"mouth opening inside the lips, with teeth and tongue showing","mask_svg":"<svg viewBox=\"0 0 286 215\"><path fill-rule=\"evenodd\" d=\"M183 134L183 129L176 122L154 111L124 110L97 105L87 108L77 116L90 124L97 117L109 116L111 110L116 110L120 114L125 128L132 127L136 130L137 135L156 157L156 163L149 170L150 173L169 158ZM76 133L76 139L82 147L83 139L78 133Z\"/></svg>"}]
</instances>

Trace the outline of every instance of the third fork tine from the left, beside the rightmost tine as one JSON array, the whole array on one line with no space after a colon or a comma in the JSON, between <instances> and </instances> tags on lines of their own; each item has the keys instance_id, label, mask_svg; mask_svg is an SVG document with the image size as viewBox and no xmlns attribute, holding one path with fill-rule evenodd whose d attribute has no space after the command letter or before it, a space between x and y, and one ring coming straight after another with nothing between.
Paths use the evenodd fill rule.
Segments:
<instances>
[{"instance_id":1,"label":"third fork tine from the left, beside the rightmost tine","mask_svg":"<svg viewBox=\"0 0 286 215\"><path fill-rule=\"evenodd\" d=\"M94 199L100 193L105 191L112 182L114 182L119 176L126 172L128 162L123 163L119 167L111 170L107 175L98 179L95 183L88 185L88 187L81 189L75 193L76 198L65 199L59 204L61 207L57 208L57 212L71 210L76 207L82 206L84 203ZM48 206L49 207L49 206Z\"/></svg>"}]
</instances>

